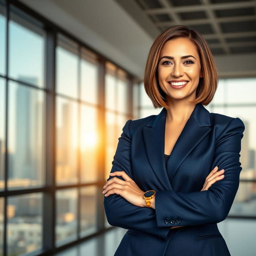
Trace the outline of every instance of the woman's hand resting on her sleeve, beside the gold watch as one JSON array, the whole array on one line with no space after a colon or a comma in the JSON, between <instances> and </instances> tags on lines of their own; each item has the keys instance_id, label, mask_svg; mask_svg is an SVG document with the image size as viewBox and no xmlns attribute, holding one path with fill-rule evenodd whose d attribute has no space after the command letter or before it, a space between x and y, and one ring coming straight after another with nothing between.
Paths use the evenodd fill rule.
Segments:
<instances>
[{"instance_id":1,"label":"woman's hand resting on her sleeve, beside the gold watch","mask_svg":"<svg viewBox=\"0 0 256 256\"><path fill-rule=\"evenodd\" d=\"M139 207L146 207L146 201L143 198L144 191L142 191L137 184L124 171L116 171L110 173L110 176L122 176L124 180L114 177L108 180L103 188L105 190L104 196L111 194L118 194L126 199L131 204Z\"/></svg>"}]
</instances>

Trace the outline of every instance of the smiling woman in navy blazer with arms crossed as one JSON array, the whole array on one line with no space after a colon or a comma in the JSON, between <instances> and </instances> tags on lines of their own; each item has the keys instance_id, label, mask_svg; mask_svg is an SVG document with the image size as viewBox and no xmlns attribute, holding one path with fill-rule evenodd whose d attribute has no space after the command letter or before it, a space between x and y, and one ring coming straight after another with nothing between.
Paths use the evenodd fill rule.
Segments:
<instances>
[{"instance_id":1,"label":"smiling woman in navy blazer with arms crossed","mask_svg":"<svg viewBox=\"0 0 256 256\"><path fill-rule=\"evenodd\" d=\"M238 190L244 123L203 106L217 84L198 32L174 26L156 38L144 88L163 109L126 122L103 191L108 222L128 229L115 256L230 256L217 223Z\"/></svg>"}]
</instances>

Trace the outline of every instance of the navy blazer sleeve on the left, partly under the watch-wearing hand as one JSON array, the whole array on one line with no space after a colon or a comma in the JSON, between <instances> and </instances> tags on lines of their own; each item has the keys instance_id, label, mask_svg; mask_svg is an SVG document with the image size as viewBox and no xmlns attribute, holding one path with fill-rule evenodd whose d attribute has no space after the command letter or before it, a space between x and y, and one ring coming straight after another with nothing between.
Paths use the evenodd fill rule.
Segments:
<instances>
[{"instance_id":1,"label":"navy blazer sleeve on the left, partly under the watch-wearing hand","mask_svg":"<svg viewBox=\"0 0 256 256\"><path fill-rule=\"evenodd\" d=\"M130 159L131 136L129 132L130 122L128 120L122 128L122 134L118 138L118 146L112 161L111 172L125 171L130 178L132 176L132 164ZM114 176L124 180L122 176ZM110 176L108 180L114 178ZM108 181L107 180L107 181ZM153 208L139 207L131 204L118 194L104 196L104 209L108 223L120 228L134 229L142 232L168 239L170 236L170 227L158 227L156 223L156 213Z\"/></svg>"}]
</instances>

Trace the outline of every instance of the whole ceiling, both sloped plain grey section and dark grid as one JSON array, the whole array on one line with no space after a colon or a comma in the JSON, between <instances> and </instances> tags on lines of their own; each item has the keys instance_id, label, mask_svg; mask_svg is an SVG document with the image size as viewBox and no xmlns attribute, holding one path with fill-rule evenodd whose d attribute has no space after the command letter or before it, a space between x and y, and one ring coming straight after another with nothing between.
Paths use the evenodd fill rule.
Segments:
<instances>
[{"instance_id":1,"label":"whole ceiling, both sloped plain grey section and dark grid","mask_svg":"<svg viewBox=\"0 0 256 256\"><path fill-rule=\"evenodd\" d=\"M220 78L256 77L256 0L19 1L139 80L155 38L180 24L208 41Z\"/></svg>"}]
</instances>

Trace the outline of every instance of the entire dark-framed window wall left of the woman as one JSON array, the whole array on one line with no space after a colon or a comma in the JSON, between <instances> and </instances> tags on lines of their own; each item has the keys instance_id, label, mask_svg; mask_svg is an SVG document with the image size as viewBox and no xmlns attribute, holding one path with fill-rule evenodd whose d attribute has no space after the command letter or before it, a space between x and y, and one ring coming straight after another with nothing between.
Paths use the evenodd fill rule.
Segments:
<instances>
[{"instance_id":1,"label":"entire dark-framed window wall left of the woman","mask_svg":"<svg viewBox=\"0 0 256 256\"><path fill-rule=\"evenodd\" d=\"M132 76L22 6L0 0L0 256L108 227L102 187L132 118Z\"/></svg>"}]
</instances>

